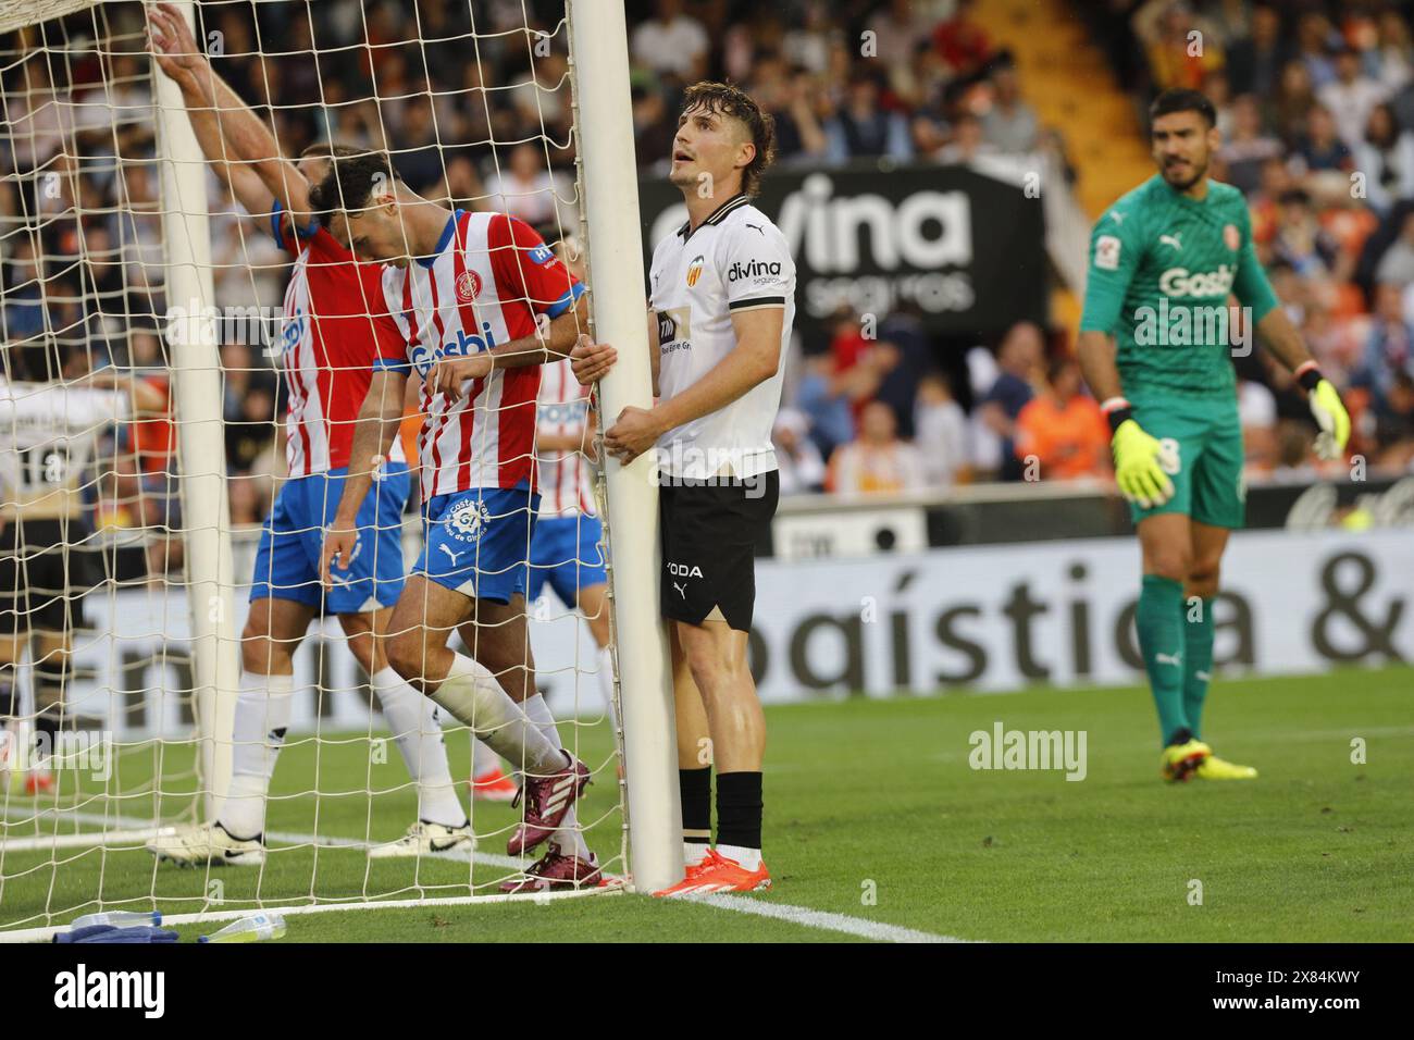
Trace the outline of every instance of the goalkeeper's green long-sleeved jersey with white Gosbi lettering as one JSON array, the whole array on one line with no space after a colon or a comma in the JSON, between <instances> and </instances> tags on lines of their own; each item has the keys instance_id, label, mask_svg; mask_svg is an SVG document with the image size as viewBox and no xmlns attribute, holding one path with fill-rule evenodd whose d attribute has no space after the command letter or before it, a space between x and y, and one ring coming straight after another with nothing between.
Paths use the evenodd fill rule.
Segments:
<instances>
[{"instance_id":1,"label":"goalkeeper's green long-sleeved jersey with white Gosbi lettering","mask_svg":"<svg viewBox=\"0 0 1414 1040\"><path fill-rule=\"evenodd\" d=\"M1249 337L1277 306L1241 192L1209 181L1195 200L1155 174L1094 225L1080 331L1116 337L1126 395L1232 396L1230 294L1246 308Z\"/></svg>"}]
</instances>

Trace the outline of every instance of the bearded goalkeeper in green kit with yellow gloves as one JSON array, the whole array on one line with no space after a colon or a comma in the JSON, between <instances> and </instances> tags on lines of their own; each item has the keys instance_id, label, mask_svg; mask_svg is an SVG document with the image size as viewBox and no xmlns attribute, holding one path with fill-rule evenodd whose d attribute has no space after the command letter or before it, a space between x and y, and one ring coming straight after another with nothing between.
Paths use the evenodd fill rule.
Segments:
<instances>
[{"instance_id":1,"label":"bearded goalkeeper in green kit with yellow gloves","mask_svg":"<svg viewBox=\"0 0 1414 1040\"><path fill-rule=\"evenodd\" d=\"M1208 180L1219 147L1212 102L1165 91L1150 108L1158 175L1120 198L1090 235L1079 355L1110 420L1114 477L1144 556L1135 627L1158 707L1162 775L1251 780L1202 741L1213 665L1212 601L1227 536L1243 525L1243 441L1232 351L1253 330L1305 389L1316 454L1350 436L1257 262L1241 192ZM1241 306L1241 320L1229 308Z\"/></svg>"}]
</instances>

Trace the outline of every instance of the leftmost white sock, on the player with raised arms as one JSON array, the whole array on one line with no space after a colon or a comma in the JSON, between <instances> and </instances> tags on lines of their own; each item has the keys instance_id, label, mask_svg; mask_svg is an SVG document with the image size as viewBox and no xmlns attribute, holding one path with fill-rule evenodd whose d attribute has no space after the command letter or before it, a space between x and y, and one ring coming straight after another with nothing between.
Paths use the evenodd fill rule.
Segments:
<instances>
[{"instance_id":1,"label":"leftmost white sock, on the player with raised arms","mask_svg":"<svg viewBox=\"0 0 1414 1040\"><path fill-rule=\"evenodd\" d=\"M266 798L274 761L290 726L293 675L240 672L236 695L235 747L230 751L230 791L219 824L232 838L264 833Z\"/></svg>"}]
</instances>

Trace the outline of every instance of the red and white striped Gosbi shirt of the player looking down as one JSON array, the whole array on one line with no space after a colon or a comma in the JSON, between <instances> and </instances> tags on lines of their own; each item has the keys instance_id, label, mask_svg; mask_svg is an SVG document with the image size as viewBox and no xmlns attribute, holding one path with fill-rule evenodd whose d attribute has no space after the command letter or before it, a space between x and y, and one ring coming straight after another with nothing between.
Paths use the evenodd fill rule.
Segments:
<instances>
[{"instance_id":1,"label":"red and white striped Gosbi shirt of the player looking down","mask_svg":"<svg viewBox=\"0 0 1414 1040\"><path fill-rule=\"evenodd\" d=\"M375 362L421 376L462 357L530 335L536 316L559 317L584 287L530 225L458 209L431 259L383 270L389 324L402 349ZM426 383L417 436L423 501L468 488L534 488L540 366L498 368L457 400Z\"/></svg>"}]
</instances>

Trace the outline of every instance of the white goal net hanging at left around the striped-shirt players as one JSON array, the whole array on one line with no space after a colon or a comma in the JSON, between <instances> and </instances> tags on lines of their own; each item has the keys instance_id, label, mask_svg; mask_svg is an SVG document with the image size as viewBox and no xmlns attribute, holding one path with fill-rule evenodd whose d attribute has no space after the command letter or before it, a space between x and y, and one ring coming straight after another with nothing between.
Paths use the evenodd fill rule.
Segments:
<instances>
[{"instance_id":1,"label":"white goal net hanging at left around the striped-shirt players","mask_svg":"<svg viewBox=\"0 0 1414 1040\"><path fill-rule=\"evenodd\" d=\"M286 158L322 144L387 153L448 216L518 218L590 283L595 215L563 0L175 10ZM546 850L506 852L525 775L445 712L451 798L475 840L369 855L416 831L427 778L403 751L428 740L426 727L411 741L392 732L328 603L294 649L288 717L256 740L279 757L255 869L154 856L229 811L252 582L291 596L269 563L256 574L262 525L291 484L288 412L317 391L287 371L300 246L273 231L293 224L281 207L242 202L256 167L230 116L216 108L225 161L214 161L153 47L139 3L0 0L0 937L42 938L103 910L219 920L501 896ZM626 108L626 67L624 79ZM612 567L595 570L609 556L608 497L587 460L590 391L547 366L540 395L536 464L542 478L554 471L556 494L534 529L554 519L560 533L530 545L525 518L540 572L526 576L540 590L526 600L534 686L592 774L575 826L615 879L628 873L611 624L624 589ZM428 410L426 393L409 395L399 576L427 531ZM575 436L588 453L567 447ZM307 591L288 601L307 606ZM451 647L475 655L484 635L472 620Z\"/></svg>"}]
</instances>

